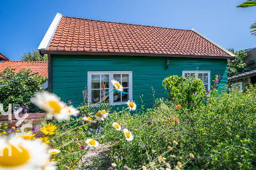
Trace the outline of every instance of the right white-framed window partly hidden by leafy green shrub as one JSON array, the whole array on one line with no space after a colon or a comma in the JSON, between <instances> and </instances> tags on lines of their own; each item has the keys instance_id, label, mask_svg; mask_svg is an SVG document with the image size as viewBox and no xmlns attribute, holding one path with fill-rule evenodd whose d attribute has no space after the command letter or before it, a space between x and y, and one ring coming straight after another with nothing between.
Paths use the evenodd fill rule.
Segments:
<instances>
[{"instance_id":1,"label":"right white-framed window partly hidden by leafy green shrub","mask_svg":"<svg viewBox=\"0 0 256 170\"><path fill-rule=\"evenodd\" d=\"M210 90L210 87L211 87L210 71L183 71L182 76L183 77L193 76L194 78L199 78L202 81L202 83L204 83L205 90L206 91Z\"/></svg>"}]
</instances>

